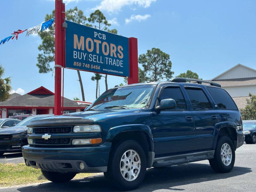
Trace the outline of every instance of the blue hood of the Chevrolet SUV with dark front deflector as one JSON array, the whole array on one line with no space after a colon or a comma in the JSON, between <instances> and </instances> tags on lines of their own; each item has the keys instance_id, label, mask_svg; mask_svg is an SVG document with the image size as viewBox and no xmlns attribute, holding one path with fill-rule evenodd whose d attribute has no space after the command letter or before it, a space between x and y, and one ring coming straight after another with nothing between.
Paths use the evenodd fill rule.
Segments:
<instances>
[{"instance_id":1,"label":"blue hood of the Chevrolet SUV with dark front deflector","mask_svg":"<svg viewBox=\"0 0 256 192\"><path fill-rule=\"evenodd\" d=\"M28 124L28 127L92 124L98 119L134 113L140 113L140 109L105 109L98 111L83 111L31 121Z\"/></svg>"}]
</instances>

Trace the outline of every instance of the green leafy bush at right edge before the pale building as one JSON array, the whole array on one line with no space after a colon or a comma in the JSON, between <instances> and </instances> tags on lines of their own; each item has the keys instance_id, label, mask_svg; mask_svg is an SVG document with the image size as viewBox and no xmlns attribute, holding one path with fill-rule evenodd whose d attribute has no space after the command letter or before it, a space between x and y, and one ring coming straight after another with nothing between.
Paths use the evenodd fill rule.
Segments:
<instances>
[{"instance_id":1,"label":"green leafy bush at right edge before the pale building","mask_svg":"<svg viewBox=\"0 0 256 192\"><path fill-rule=\"evenodd\" d=\"M243 120L256 120L256 95L249 93L250 99L246 99L247 104L240 109Z\"/></svg>"}]
</instances>

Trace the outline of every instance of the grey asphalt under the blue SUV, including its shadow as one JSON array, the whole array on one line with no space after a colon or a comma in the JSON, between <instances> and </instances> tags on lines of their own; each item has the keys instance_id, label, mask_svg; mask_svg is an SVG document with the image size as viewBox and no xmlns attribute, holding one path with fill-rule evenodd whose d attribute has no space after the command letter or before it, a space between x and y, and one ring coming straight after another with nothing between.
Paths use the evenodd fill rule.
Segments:
<instances>
[{"instance_id":1,"label":"grey asphalt under the blue SUV, including its shadow","mask_svg":"<svg viewBox=\"0 0 256 192\"><path fill-rule=\"evenodd\" d=\"M236 162L229 173L215 173L209 162L199 161L171 167L150 168L136 192L172 191L246 191L255 192L256 145L244 144L236 150ZM38 185L0 188L0 192L102 192L116 191L102 174L68 183L47 182Z\"/></svg>"}]
</instances>

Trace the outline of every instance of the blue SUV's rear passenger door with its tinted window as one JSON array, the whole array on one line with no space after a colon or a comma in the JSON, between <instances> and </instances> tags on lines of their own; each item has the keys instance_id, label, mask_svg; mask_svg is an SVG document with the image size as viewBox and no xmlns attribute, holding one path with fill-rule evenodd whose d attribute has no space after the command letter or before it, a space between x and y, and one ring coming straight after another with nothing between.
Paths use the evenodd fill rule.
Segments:
<instances>
[{"instance_id":1,"label":"blue SUV's rear passenger door with its tinted window","mask_svg":"<svg viewBox=\"0 0 256 192\"><path fill-rule=\"evenodd\" d=\"M192 116L195 122L196 149L212 148L214 126L219 121L214 104L208 99L201 85L185 85L192 106Z\"/></svg>"}]
</instances>

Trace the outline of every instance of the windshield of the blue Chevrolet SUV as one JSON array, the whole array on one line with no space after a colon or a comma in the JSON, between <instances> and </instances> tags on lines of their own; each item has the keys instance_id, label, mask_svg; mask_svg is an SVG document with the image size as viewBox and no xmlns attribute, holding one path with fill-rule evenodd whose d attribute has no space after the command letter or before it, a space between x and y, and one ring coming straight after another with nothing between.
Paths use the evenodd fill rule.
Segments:
<instances>
[{"instance_id":1,"label":"windshield of the blue Chevrolet SUV","mask_svg":"<svg viewBox=\"0 0 256 192\"><path fill-rule=\"evenodd\" d=\"M155 87L156 85L136 85L109 89L87 110L148 107Z\"/></svg>"}]
</instances>

